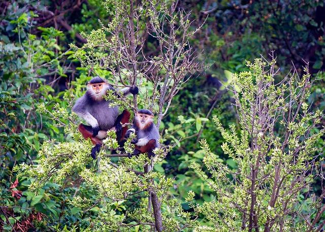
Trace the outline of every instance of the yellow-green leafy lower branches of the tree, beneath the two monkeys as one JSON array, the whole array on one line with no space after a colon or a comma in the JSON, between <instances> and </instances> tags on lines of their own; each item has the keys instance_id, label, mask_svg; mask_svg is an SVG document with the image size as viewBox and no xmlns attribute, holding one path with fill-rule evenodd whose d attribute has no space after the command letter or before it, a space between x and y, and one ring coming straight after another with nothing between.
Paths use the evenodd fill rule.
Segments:
<instances>
[{"instance_id":1,"label":"yellow-green leafy lower branches of the tree, beneath the two monkeys","mask_svg":"<svg viewBox=\"0 0 325 232\"><path fill-rule=\"evenodd\" d=\"M44 112L44 108L41 106L39 111ZM66 110L61 108L56 109L55 112L60 113L57 116L52 115L53 119L62 122L58 116L63 116L63 119L66 120L64 118L64 115L67 114ZM18 172L17 177L31 178L29 189L35 192L46 186L48 181L64 185L66 180L72 176L77 179L82 178L85 186L93 189L93 194L76 195L69 201L75 207L71 210L73 215L80 211L98 212L98 216L93 220L95 225L92 227L93 231L107 231L109 228L117 230L117 228L121 229L121 226L128 231L128 226L132 227L137 222L141 222L139 228L147 230L147 226L143 223L150 225L154 219L146 210L148 202L143 198L146 196L145 192L149 188L156 192L159 198L163 197L172 186L173 180L159 172L141 174L143 165L149 162L145 154L131 159L120 158L113 162L114 158L107 157L109 155L103 149L99 153L98 167L95 168L92 158L89 156L92 144L81 137L72 118L69 118L68 122L68 125L64 125L65 128L69 128L65 132L69 133L69 137L73 141L43 143L42 149L39 151L38 165L22 163L19 167L16 166L14 171ZM107 148L118 148L116 135L113 131L108 133L108 138L103 142ZM160 162L165 154L166 151L163 148L157 150L156 156L150 160L152 165ZM138 171L134 172L133 170ZM151 184L151 179L156 185ZM137 202L137 195L144 199L141 203ZM31 204L36 205L41 199L42 196L33 198ZM103 205L101 206L101 204ZM132 209L133 207L130 208L129 204L137 204L137 207ZM188 224L186 226L195 223L190 220L190 215L182 210L180 203L175 199L163 200L161 204L165 209L163 221L166 231L174 231L175 227L183 226L184 223ZM176 215L178 215L177 219Z\"/></svg>"}]
</instances>

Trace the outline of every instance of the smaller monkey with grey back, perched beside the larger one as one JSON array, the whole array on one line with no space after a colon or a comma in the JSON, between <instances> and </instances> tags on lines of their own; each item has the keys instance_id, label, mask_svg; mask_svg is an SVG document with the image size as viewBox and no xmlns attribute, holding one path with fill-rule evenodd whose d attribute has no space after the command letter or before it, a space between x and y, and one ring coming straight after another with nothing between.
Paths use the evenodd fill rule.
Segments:
<instances>
[{"instance_id":1,"label":"smaller monkey with grey back, perched beside the larger one","mask_svg":"<svg viewBox=\"0 0 325 232\"><path fill-rule=\"evenodd\" d=\"M136 113L133 125L126 131L125 137L128 138L132 132L137 136L131 141L136 147L134 153L129 154L129 157L141 153L148 153L149 158L153 157L153 149L159 147L160 136L150 110L143 109Z\"/></svg>"}]
</instances>

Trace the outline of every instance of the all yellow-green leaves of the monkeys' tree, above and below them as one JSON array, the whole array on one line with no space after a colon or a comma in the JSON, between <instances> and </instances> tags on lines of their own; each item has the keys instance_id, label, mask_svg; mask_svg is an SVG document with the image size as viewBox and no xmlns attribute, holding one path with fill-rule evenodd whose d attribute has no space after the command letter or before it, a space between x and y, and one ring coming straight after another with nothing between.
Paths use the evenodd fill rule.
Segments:
<instances>
[{"instance_id":1,"label":"all yellow-green leaves of the monkeys' tree, above and below them","mask_svg":"<svg viewBox=\"0 0 325 232\"><path fill-rule=\"evenodd\" d=\"M79 60L85 68L95 75L108 75L110 81L114 83L114 86L118 85L118 81L123 85L125 85L125 83L127 85L138 84L139 82L141 88L147 89L145 93L140 94L140 97L142 95L144 95L144 97L140 98L139 104L150 104L151 107L154 108L159 107L160 119L158 118L158 120L161 120L161 116L163 115L163 103L161 102L164 101L166 93L168 93L166 97L169 101L169 106L173 95L177 93L175 89L178 87L179 83L182 84L182 80L186 73L193 72L192 68L188 67L194 67L193 69L196 69L196 64L190 61L190 64L193 66L186 66L186 57L184 55L181 55L182 57L180 58L177 57L177 62L180 63L180 66L177 68L181 69L182 72L176 72L175 74L169 73L168 75L170 75L170 77L166 76L167 79L165 81L158 80L158 82L154 83L156 88L152 88L150 79L144 79L140 72L138 76L131 76L131 74L134 75L135 72L138 73L136 70L128 71L127 68L123 69L120 76L112 76L105 72L103 68L111 68L113 74L115 67L118 67L117 69L119 72L121 70L118 65L123 60L120 59L118 52L106 52L107 49L115 49L115 51L116 49L120 49L120 46L116 44L118 38L114 38L113 35L113 37L108 40L106 36L107 32L113 33L115 30L120 29L121 26L127 28L128 20L124 17L125 9L128 7L131 9L127 1L104 2L104 7L112 14L113 11L110 12L112 3L114 3L114 17L111 22L107 27L102 25L100 29L92 30L90 34L82 34L83 37L87 39L87 43L84 44L81 49L72 45L76 50L73 54L73 58ZM151 4L146 7L150 9L153 5ZM161 8L164 7L166 7L166 9L161 11L162 14L168 14L167 6L165 6L164 2L161 2ZM143 9L137 9L137 14L142 14L142 11ZM156 14L157 13L152 12L151 17L155 17ZM174 20L178 19L176 15L179 17L180 22L184 23L184 27L186 27L184 32L187 37L189 35L189 32L187 32L189 21L183 19L182 14L178 13L175 13ZM137 26L139 26L139 24ZM127 44L125 44L125 46L126 45ZM180 46L182 47L179 51L185 52L185 44L179 45L178 47ZM157 60L158 57L154 59L157 63L164 62L163 59ZM104 62L103 65L101 64L102 61ZM165 66L167 65L169 64L165 64ZM170 70L170 68L168 69ZM171 72L171 70L169 72ZM84 75L82 78L87 79L88 77ZM117 80L116 78L119 79ZM137 82L135 82L135 80L137 80ZM79 82L77 81L76 84L78 85ZM150 91L155 92L159 88L161 89L161 86L166 89L165 93L152 93L152 100L149 100L151 96L148 96L148 93L150 93ZM169 86L173 91L167 92ZM119 105L123 108L137 107L136 97L133 98L133 101L127 98L120 100L117 95L113 94L113 92L108 92L107 99L112 102L111 106ZM70 110L67 109L72 106L71 101L69 101L71 98L73 98L73 95L69 95L67 92L63 99L68 104L65 106L55 104L52 110L47 109L44 104L39 105L38 112L50 116L54 120L54 126L63 127L67 141L58 142L56 140L50 140L44 142L39 151L37 165L20 163L14 167L13 170L17 172L18 178L26 177L30 179L29 190L37 193L41 191L48 182L55 182L64 188L67 179L72 177L82 179L85 185L93 189L94 192L91 197L83 196L83 193L80 193L80 195L75 193L75 197L69 201L69 203L75 207L72 208L71 214L74 215L79 211L86 212L91 209L98 211L97 217L92 220L93 226L91 226L92 230L95 231L107 231L111 229L128 231L131 227L149 230L158 223L157 212L161 214L161 209L163 209L161 222L163 222L164 231L174 231L175 228L182 230L183 228L196 225L197 222L191 220L191 214L182 209L178 200L166 197L172 186L173 179L167 178L163 172L142 172L143 167L145 167L146 170L147 166L149 169L151 166L154 167L154 164L161 162L169 152L169 147L155 149L155 156L151 159L149 159L146 154L129 159L126 158L125 155L120 154L121 152L116 141L115 132L108 131L108 137L103 141L104 147L98 154L97 162L94 163L89 157L89 150L91 150L92 145L90 141L85 141L81 137L75 122L76 115L71 114ZM158 101L159 106L157 106ZM164 115L167 110L168 107L165 109ZM204 117L197 117L195 121L196 129L199 131L202 127L202 121L207 121L207 119ZM160 123L160 121L158 123ZM178 132L178 134L181 136L184 135L181 132ZM126 151L132 150L130 141L131 139L124 144ZM114 149L117 154L110 155L104 148ZM138 201L139 197L146 198L149 194L153 199L150 204L153 205L154 214L147 210L149 207L149 202L147 200ZM42 198L42 195L38 194L38 197L32 200L31 204L38 204ZM130 205L132 207L130 207ZM62 227L62 225L60 226ZM76 227L71 227L72 230L75 228ZM83 226L81 228L87 227ZM66 229L66 227L63 227L63 229Z\"/></svg>"}]
</instances>

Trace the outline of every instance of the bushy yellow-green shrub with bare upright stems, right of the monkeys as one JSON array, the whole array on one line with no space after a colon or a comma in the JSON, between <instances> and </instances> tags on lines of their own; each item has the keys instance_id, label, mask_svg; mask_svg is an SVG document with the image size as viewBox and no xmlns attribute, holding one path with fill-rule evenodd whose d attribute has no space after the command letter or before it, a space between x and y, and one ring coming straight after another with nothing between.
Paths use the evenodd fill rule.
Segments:
<instances>
[{"instance_id":1,"label":"bushy yellow-green shrub with bare upright stems, right of the monkeys","mask_svg":"<svg viewBox=\"0 0 325 232\"><path fill-rule=\"evenodd\" d=\"M321 148L316 144L325 130L311 132L317 128L321 112L309 111L308 69L300 79L294 73L275 83L275 60L267 64L255 59L253 63L247 62L247 67L248 72L234 74L233 79L240 90L233 90L240 136L235 125L226 130L213 117L224 139L222 150L236 166L219 162L206 141L201 141L204 164L211 178L207 179L197 163L192 163L191 168L207 180L216 199L197 210L217 231L252 231L253 227L266 231L309 231L318 222L311 226L302 216L314 212L314 204L320 200L309 198L309 194L320 171ZM300 197L313 203L302 210Z\"/></svg>"}]
</instances>

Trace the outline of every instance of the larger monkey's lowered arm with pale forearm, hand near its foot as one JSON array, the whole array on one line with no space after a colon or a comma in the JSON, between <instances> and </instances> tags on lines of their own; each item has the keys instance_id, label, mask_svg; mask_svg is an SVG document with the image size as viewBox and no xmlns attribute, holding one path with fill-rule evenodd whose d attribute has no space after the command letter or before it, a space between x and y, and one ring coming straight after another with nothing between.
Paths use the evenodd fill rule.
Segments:
<instances>
[{"instance_id":1,"label":"larger monkey's lowered arm with pale forearm, hand near its foot","mask_svg":"<svg viewBox=\"0 0 325 232\"><path fill-rule=\"evenodd\" d=\"M86 108L86 101L87 98L86 96L80 97L76 104L73 106L72 111L74 111L78 116L83 118L92 128L93 131L93 137L98 135L98 131L100 130L99 124L97 119L95 119L88 111Z\"/></svg>"}]
</instances>

